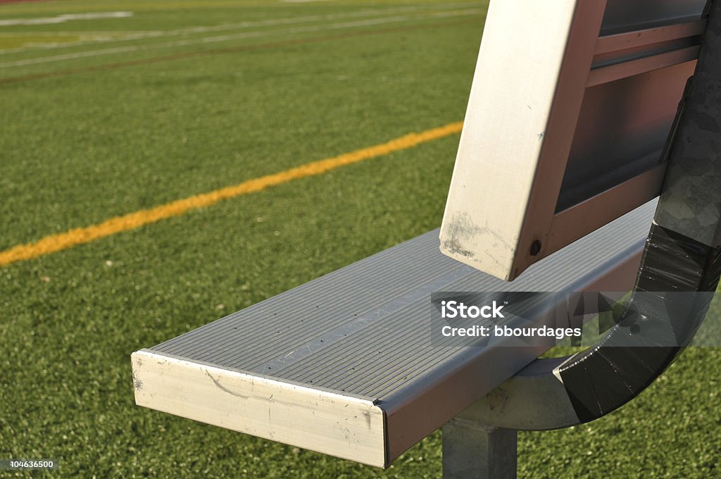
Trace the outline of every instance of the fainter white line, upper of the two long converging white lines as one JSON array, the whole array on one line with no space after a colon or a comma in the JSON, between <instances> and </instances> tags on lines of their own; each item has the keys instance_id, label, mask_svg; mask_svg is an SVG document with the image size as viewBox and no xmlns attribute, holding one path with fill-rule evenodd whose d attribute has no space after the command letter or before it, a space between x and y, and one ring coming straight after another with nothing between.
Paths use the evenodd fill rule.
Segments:
<instances>
[{"instance_id":1,"label":"fainter white line, upper of the two long converging white lines","mask_svg":"<svg viewBox=\"0 0 721 479\"><path fill-rule=\"evenodd\" d=\"M39 50L39 49L54 49L54 48L68 48L77 45L88 45L92 43L105 43L105 42L122 42L128 40L138 40L142 38L164 38L178 35L192 35L194 33L207 33L207 32L222 32L227 30L243 30L252 27L272 27L275 25L293 25L296 23L314 22L317 20L335 20L335 19L347 19L353 17L372 17L378 14L398 14L405 12L423 12L425 10L433 9L453 9L456 7L466 7L478 5L477 2L459 2L453 4L441 4L441 5L415 5L415 6L403 6L393 9L373 9L373 10L362 10L360 12L348 12L348 13L337 13L337 14L325 14L325 15L308 15L305 17L286 17L278 19L267 19L259 20L255 22L239 22L232 24L223 25L208 25L199 27L186 27L176 30L154 30L150 32L92 32L94 34L106 33L112 35L114 33L120 33L123 35L121 38L112 38L109 40L81 40L77 42L66 42L66 43L54 43L51 45L33 45L32 47L20 47L12 48L10 50L0 50L0 55L6 53L20 53L22 51ZM81 35L84 33L91 34L91 32L56 32L55 35ZM10 33L16 35L17 32ZM6 35L0 32L1 35ZM53 35L53 32L28 32L28 35Z\"/></svg>"}]
</instances>

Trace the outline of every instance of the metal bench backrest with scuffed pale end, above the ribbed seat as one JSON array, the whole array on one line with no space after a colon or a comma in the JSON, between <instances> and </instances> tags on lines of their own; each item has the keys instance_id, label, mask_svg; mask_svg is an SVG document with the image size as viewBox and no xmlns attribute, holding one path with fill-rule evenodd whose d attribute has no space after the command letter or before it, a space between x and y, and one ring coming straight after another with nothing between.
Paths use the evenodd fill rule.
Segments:
<instances>
[{"instance_id":1,"label":"metal bench backrest with scuffed pale end, above the ribbed seat","mask_svg":"<svg viewBox=\"0 0 721 479\"><path fill-rule=\"evenodd\" d=\"M492 1L441 250L512 280L658 196L705 6Z\"/></svg>"}]
</instances>

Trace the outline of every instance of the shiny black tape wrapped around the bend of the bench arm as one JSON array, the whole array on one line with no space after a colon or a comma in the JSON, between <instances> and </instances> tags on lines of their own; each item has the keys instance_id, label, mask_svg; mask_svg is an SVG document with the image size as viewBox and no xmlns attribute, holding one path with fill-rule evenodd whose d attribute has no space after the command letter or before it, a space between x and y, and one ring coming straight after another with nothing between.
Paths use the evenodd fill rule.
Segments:
<instances>
[{"instance_id":1,"label":"shiny black tape wrapped around the bend of the bench arm","mask_svg":"<svg viewBox=\"0 0 721 479\"><path fill-rule=\"evenodd\" d=\"M557 371L581 423L632 400L691 343L718 286L720 258L719 247L651 228L619 324Z\"/></svg>"}]
</instances>

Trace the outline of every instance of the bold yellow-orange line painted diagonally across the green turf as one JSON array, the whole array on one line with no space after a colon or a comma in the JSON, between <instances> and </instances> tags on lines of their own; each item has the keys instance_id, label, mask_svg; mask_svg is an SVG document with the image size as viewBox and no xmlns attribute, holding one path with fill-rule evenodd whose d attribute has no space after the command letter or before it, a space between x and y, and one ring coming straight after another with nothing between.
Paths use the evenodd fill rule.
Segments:
<instances>
[{"instance_id":1,"label":"bold yellow-orange line painted diagonally across the green turf","mask_svg":"<svg viewBox=\"0 0 721 479\"><path fill-rule=\"evenodd\" d=\"M320 159L300 167L291 168L290 170L273 173L273 175L247 180L238 185L227 186L226 188L214 190L209 193L201 193L154 208L128 213L123 216L115 216L115 218L108 219L99 224L93 224L89 227L71 229L59 234L50 234L50 236L46 236L37 242L17 245L11 247L9 250L0 251L0 266L66 250L69 247L82 245L83 243L104 238L111 234L128 231L129 229L135 229L145 224L170 218L171 216L184 214L196 208L210 206L228 198L255 193L256 191L265 190L265 188L288 183L299 178L322 175L325 172L347 164L380 157L393 151L409 149L426 141L441 139L445 136L459 133L462 126L463 123L461 122L450 123L446 126L423 131L422 133L409 133L387 143L350 151L350 153L341 154L338 157Z\"/></svg>"}]
</instances>

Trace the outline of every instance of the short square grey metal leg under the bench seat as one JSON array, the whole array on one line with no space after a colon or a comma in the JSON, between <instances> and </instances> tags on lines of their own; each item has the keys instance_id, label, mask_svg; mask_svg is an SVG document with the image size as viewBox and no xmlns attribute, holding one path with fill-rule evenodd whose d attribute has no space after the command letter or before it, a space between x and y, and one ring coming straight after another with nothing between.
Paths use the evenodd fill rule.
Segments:
<instances>
[{"instance_id":1,"label":"short square grey metal leg under the bench seat","mask_svg":"<svg viewBox=\"0 0 721 479\"><path fill-rule=\"evenodd\" d=\"M515 478L517 434L462 416L451 419L443 426L443 478Z\"/></svg>"}]
</instances>

